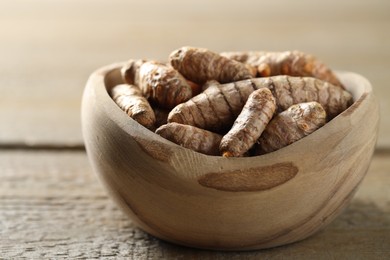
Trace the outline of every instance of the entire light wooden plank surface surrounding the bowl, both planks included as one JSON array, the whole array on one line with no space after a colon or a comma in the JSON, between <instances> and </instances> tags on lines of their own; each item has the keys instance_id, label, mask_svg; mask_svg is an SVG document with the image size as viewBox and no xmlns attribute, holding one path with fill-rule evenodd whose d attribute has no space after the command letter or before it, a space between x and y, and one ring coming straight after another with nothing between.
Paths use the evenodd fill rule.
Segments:
<instances>
[{"instance_id":1,"label":"entire light wooden plank surface surrounding the bowl, both planks included","mask_svg":"<svg viewBox=\"0 0 390 260\"><path fill-rule=\"evenodd\" d=\"M390 258L390 1L3 0L0 33L0 259ZM137 229L107 197L83 149L88 75L184 45L298 49L369 79L381 105L377 149L325 230L268 250L197 250Z\"/></svg>"}]
</instances>

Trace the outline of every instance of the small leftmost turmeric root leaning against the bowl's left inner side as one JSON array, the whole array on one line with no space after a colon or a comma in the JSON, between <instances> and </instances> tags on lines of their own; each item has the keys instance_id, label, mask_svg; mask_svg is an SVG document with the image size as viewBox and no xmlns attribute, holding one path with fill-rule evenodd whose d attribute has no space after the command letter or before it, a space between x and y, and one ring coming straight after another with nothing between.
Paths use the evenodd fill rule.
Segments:
<instances>
[{"instance_id":1,"label":"small leftmost turmeric root leaning against the bowl's left inner side","mask_svg":"<svg viewBox=\"0 0 390 260\"><path fill-rule=\"evenodd\" d=\"M117 85L111 89L110 95L115 103L131 118L146 128L153 129L156 121L154 112L136 86Z\"/></svg>"}]
</instances>

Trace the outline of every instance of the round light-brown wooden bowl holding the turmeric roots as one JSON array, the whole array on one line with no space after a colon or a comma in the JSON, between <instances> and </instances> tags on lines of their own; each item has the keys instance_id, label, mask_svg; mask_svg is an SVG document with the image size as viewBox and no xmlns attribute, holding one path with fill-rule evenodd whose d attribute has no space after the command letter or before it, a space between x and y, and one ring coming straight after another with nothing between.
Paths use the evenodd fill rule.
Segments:
<instances>
[{"instance_id":1,"label":"round light-brown wooden bowl holding the turmeric roots","mask_svg":"<svg viewBox=\"0 0 390 260\"><path fill-rule=\"evenodd\" d=\"M223 158L178 146L129 118L107 94L122 83L121 66L88 80L85 145L112 198L156 237L224 250L292 243L330 223L367 172L379 106L362 76L338 73L355 102L313 134L270 154Z\"/></svg>"}]
</instances>

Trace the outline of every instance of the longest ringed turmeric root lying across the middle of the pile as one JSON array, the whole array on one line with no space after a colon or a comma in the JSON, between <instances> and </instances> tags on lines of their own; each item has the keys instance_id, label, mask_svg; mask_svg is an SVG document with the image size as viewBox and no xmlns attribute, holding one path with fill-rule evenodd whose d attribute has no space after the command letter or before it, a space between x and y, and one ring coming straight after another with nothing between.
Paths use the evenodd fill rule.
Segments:
<instances>
[{"instance_id":1,"label":"longest ringed turmeric root lying across the middle of the pile","mask_svg":"<svg viewBox=\"0 0 390 260\"><path fill-rule=\"evenodd\" d=\"M229 128L256 89L268 88L276 100L277 112L303 102L317 101L332 119L352 102L347 91L311 77L274 76L242 80L209 87L203 93L177 105L168 122L197 126L210 131Z\"/></svg>"}]
</instances>

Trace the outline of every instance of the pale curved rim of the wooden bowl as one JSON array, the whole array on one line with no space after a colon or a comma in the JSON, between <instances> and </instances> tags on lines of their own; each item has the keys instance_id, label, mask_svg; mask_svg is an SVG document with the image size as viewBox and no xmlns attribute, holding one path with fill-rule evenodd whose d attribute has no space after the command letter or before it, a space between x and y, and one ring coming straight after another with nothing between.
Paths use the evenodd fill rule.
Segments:
<instances>
[{"instance_id":1,"label":"pale curved rim of the wooden bowl","mask_svg":"<svg viewBox=\"0 0 390 260\"><path fill-rule=\"evenodd\" d=\"M310 139L314 140L320 137L321 134L326 132L330 128L334 128L336 125L341 125L340 121L345 121L346 118L350 117L354 114L355 111L359 111L362 109L361 105L365 104L368 99L373 98L373 88L370 84L370 82L363 77L360 74L349 72L349 71L334 71L336 76L340 79L340 81L345 86L346 90L348 90L352 96L354 102L352 105L350 105L346 110L341 112L339 115L334 117L332 120L327 122L324 126L322 126L320 129L314 131L310 135L288 145L285 146L277 151L273 151L267 154L263 155L256 155L256 156L250 156L250 157L229 157L225 158L220 155L206 155L202 154L196 151L193 151L191 149L182 147L176 143L173 143L153 131L147 129L146 127L140 125L138 122L136 122L134 119L130 118L126 115L125 112L123 112L122 109L120 109L115 102L112 100L112 98L109 95L108 88L113 87L114 85L124 83L120 77L120 68L125 64L125 62L115 62L106 66L103 66L97 70L95 70L88 80L88 85L92 88L94 91L94 94L97 99L100 99L103 101L102 107L104 108L107 115L110 117L112 121L114 121L119 127L122 128L123 131L125 131L127 134L133 136L134 134L141 134L142 136L145 136L150 141L155 142L159 145L164 145L166 148L171 148L174 150L181 150L185 153L194 153L196 156L201 157L203 159L212 159L212 160L231 160L231 161L252 161L255 158L273 158L275 156L284 157L286 154L293 152L295 146L301 144L305 141L310 141ZM344 81L346 79L352 78L354 81L359 81L360 88L356 88L353 86L350 86L349 84L345 84ZM136 133L134 132L134 129L136 129ZM142 132L142 133L141 133Z\"/></svg>"}]
</instances>

